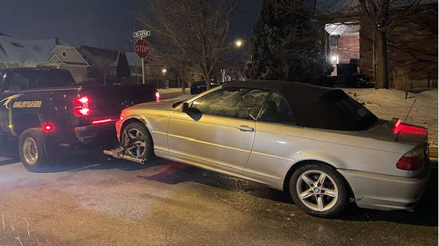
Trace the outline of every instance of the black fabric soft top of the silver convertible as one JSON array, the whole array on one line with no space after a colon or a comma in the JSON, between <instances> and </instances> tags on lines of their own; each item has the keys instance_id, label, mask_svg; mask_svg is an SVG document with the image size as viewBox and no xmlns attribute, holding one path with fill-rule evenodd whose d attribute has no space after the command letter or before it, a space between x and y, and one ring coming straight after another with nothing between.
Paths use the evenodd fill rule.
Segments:
<instances>
[{"instance_id":1,"label":"black fabric soft top of the silver convertible","mask_svg":"<svg viewBox=\"0 0 439 246\"><path fill-rule=\"evenodd\" d=\"M269 90L284 96L298 126L360 131L378 119L340 89L290 81L236 81L223 88Z\"/></svg>"}]
</instances>

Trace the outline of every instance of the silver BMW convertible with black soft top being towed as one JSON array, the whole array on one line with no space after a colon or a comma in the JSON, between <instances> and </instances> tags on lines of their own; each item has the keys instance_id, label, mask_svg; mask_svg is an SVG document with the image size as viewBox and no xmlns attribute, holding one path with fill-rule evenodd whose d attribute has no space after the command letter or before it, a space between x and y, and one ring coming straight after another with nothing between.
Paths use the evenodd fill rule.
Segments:
<instances>
[{"instance_id":1,"label":"silver BMW convertible with black soft top being towed","mask_svg":"<svg viewBox=\"0 0 439 246\"><path fill-rule=\"evenodd\" d=\"M413 210L430 174L427 129L381 120L342 90L288 81L225 83L186 101L121 112L123 154L195 165L286 191L305 213Z\"/></svg>"}]
</instances>

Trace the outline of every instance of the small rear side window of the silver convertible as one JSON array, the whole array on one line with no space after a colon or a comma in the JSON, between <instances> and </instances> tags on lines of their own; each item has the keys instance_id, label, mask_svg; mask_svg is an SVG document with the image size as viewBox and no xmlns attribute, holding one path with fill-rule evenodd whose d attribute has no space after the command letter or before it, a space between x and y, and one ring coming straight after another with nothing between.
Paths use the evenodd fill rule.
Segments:
<instances>
[{"instance_id":1,"label":"small rear side window of the silver convertible","mask_svg":"<svg viewBox=\"0 0 439 246\"><path fill-rule=\"evenodd\" d=\"M283 96L276 92L273 92L265 102L258 121L289 125L296 124L290 105L288 105Z\"/></svg>"}]
</instances>

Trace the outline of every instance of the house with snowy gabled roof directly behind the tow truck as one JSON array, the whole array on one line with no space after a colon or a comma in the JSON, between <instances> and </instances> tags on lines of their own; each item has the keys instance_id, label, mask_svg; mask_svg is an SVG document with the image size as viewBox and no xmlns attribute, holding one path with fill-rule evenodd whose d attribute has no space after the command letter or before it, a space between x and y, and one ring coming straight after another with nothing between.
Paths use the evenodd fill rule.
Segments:
<instances>
[{"instance_id":1,"label":"house with snowy gabled roof directly behind the tow truck","mask_svg":"<svg viewBox=\"0 0 439 246\"><path fill-rule=\"evenodd\" d=\"M75 47L59 38L20 40L0 33L0 69L17 67L61 68L77 83L88 80L88 63Z\"/></svg>"}]
</instances>

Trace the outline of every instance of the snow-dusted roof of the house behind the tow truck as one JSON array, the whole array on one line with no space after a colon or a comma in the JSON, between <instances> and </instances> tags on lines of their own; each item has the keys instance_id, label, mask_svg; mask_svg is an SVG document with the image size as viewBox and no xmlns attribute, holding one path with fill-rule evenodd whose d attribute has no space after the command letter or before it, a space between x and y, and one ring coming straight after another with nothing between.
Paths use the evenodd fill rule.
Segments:
<instances>
[{"instance_id":1,"label":"snow-dusted roof of the house behind the tow truck","mask_svg":"<svg viewBox=\"0 0 439 246\"><path fill-rule=\"evenodd\" d=\"M71 46L58 38L19 40L0 33L0 61L47 62L57 45Z\"/></svg>"}]
</instances>

